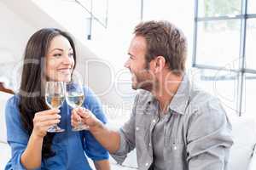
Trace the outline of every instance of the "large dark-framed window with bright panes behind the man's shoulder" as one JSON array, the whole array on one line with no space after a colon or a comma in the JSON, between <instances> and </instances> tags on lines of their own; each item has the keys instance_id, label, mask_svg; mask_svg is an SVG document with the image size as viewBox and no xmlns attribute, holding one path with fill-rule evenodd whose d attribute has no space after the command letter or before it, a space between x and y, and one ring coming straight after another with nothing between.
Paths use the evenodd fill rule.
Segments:
<instances>
[{"instance_id":1,"label":"large dark-framed window with bright panes behind the man's shoulder","mask_svg":"<svg viewBox=\"0 0 256 170\"><path fill-rule=\"evenodd\" d=\"M198 81L239 116L253 114L255 44L256 1L195 0L192 65Z\"/></svg>"}]
</instances>

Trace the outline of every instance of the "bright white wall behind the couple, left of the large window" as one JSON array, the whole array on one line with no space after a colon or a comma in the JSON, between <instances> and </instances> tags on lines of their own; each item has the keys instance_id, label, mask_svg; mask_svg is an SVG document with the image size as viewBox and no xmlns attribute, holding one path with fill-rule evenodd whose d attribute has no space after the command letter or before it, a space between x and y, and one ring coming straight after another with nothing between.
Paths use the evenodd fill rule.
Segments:
<instances>
[{"instance_id":1,"label":"bright white wall behind the couple, left of the large window","mask_svg":"<svg viewBox=\"0 0 256 170\"><path fill-rule=\"evenodd\" d=\"M3 22L0 26L0 36L3 38L0 40L0 48L7 48L15 56L15 60L19 60L28 37L34 31L43 27L58 27L72 32L79 56L77 70L84 78L84 82L93 88L105 104L122 106L125 102L131 105L131 99L135 92L131 90L130 73L123 65L125 59L128 58L127 49L132 31L140 21L140 3L137 0L129 2L110 0L108 30L104 32L101 26L94 25L93 41L86 41L86 35L83 35L82 13L73 12L75 8L73 3L64 1L66 3L60 5L55 2L60 1L22 0L22 3L18 4L15 0L2 0L0 18ZM44 10L38 7L38 4L42 5ZM172 0L167 4L163 1L161 4L160 2L145 1L144 10L144 20L170 20L181 27L189 39L189 51L191 52L193 2L188 3L186 0L182 0L177 3ZM56 12L52 13L54 11ZM86 16L84 15L84 17ZM80 26L79 23L81 23ZM90 59L99 60L91 61ZM189 53L188 59L191 59L191 53ZM188 66L190 66L190 62ZM125 83L117 84L120 79L125 80Z\"/></svg>"}]
</instances>

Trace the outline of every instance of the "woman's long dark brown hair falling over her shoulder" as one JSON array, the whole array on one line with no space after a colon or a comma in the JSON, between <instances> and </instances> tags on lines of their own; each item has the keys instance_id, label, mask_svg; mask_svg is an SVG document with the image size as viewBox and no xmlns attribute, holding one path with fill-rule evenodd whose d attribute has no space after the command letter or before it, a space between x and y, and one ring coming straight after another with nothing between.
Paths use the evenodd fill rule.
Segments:
<instances>
[{"instance_id":1,"label":"woman's long dark brown hair falling over her shoulder","mask_svg":"<svg viewBox=\"0 0 256 170\"><path fill-rule=\"evenodd\" d=\"M74 63L76 63L74 42L67 32L55 28L44 28L35 32L26 44L19 92L19 109L21 122L29 135L32 133L35 113L49 109L44 101L45 56L50 42L56 36L66 37L70 42L73 48ZM51 150L53 137L54 133L47 133L44 136L43 158L55 156L55 152Z\"/></svg>"}]
</instances>

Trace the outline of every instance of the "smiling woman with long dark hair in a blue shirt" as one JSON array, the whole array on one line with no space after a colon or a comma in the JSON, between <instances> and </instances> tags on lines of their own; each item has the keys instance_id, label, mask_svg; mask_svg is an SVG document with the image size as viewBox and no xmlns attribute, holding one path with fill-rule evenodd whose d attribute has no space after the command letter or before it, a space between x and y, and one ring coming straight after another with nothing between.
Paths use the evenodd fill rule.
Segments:
<instances>
[{"instance_id":1,"label":"smiling woman with long dark hair in a blue shirt","mask_svg":"<svg viewBox=\"0 0 256 170\"><path fill-rule=\"evenodd\" d=\"M72 109L66 101L60 111L49 109L44 101L45 82L69 82L75 61L74 43L66 32L42 29L27 42L20 92L6 105L12 157L5 169L91 169L84 151L96 169L110 169L108 151L89 132L72 131ZM89 88L84 88L84 93L84 107L94 110L92 112L105 123L99 100ZM47 133L56 123L65 132Z\"/></svg>"}]
</instances>

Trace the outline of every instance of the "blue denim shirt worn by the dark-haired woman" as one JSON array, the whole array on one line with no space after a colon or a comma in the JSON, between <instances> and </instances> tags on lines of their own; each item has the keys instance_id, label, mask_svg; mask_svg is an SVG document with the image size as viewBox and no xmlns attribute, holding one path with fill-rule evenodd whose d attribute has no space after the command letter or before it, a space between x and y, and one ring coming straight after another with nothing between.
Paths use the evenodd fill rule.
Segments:
<instances>
[{"instance_id":1,"label":"blue denim shirt worn by the dark-haired woman","mask_svg":"<svg viewBox=\"0 0 256 170\"><path fill-rule=\"evenodd\" d=\"M99 99L96 98L95 94L89 88L84 88L84 94L84 107L94 113L103 123L106 123L107 119L102 112L102 105ZM26 150L29 135L26 133L20 121L18 103L19 96L15 95L9 99L5 110L7 140L12 151L12 157L5 167L6 170L25 169L20 163L20 156ZM60 110L61 122L58 126L64 128L65 132L55 133L52 144L52 150L55 151L55 156L43 159L41 167L38 169L89 170L91 167L86 156L90 157L93 161L108 159L108 151L96 141L89 131L72 131L70 118L72 108L67 105L66 101Z\"/></svg>"}]
</instances>

